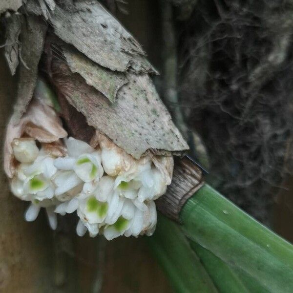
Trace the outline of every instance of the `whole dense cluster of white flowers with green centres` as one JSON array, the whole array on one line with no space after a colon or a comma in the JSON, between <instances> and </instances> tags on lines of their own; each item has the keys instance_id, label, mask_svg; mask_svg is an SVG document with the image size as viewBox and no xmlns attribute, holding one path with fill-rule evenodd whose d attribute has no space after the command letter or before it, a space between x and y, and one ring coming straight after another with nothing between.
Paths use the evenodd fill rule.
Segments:
<instances>
[{"instance_id":1,"label":"whole dense cluster of white flowers with green centres","mask_svg":"<svg viewBox=\"0 0 293 293\"><path fill-rule=\"evenodd\" d=\"M105 137L93 148L87 143L64 139L65 156L57 156L33 138L12 142L17 161L11 190L31 204L25 212L34 221L46 209L52 229L57 214L77 212L77 234L104 234L111 240L120 235L151 235L157 215L154 200L166 192L164 157L135 160ZM158 163L159 162L159 163ZM168 160L169 162L169 160Z\"/></svg>"}]
</instances>

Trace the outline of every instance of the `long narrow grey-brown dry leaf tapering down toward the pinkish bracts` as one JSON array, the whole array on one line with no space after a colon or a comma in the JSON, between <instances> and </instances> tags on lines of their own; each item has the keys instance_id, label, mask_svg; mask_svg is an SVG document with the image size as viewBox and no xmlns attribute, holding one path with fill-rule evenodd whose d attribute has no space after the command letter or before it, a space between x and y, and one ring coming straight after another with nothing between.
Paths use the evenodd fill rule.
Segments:
<instances>
[{"instance_id":1,"label":"long narrow grey-brown dry leaf tapering down toward the pinkish bracts","mask_svg":"<svg viewBox=\"0 0 293 293\"><path fill-rule=\"evenodd\" d=\"M14 107L14 123L18 123L32 96L38 77L38 64L42 55L47 25L40 17L26 16L21 27L20 73L17 102Z\"/></svg>"}]
</instances>

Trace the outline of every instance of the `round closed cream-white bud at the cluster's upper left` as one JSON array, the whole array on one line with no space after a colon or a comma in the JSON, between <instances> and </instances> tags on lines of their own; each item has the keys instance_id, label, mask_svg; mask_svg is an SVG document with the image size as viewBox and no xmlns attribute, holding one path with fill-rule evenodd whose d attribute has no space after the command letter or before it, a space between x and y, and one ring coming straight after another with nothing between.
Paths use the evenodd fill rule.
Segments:
<instances>
[{"instance_id":1,"label":"round closed cream-white bud at the cluster's upper left","mask_svg":"<svg viewBox=\"0 0 293 293\"><path fill-rule=\"evenodd\" d=\"M33 139L14 139L12 149L15 158L21 163L32 163L39 154L39 148Z\"/></svg>"}]
</instances>

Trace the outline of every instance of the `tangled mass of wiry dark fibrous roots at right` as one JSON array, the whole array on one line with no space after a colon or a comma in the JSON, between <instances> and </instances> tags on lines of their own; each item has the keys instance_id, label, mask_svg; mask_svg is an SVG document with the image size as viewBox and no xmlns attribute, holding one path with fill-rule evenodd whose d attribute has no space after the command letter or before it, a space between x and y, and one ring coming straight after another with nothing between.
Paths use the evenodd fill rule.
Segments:
<instances>
[{"instance_id":1,"label":"tangled mass of wiry dark fibrous roots at right","mask_svg":"<svg viewBox=\"0 0 293 293\"><path fill-rule=\"evenodd\" d=\"M210 184L268 224L293 166L293 2L199 0L179 31L173 106L208 147Z\"/></svg>"}]
</instances>

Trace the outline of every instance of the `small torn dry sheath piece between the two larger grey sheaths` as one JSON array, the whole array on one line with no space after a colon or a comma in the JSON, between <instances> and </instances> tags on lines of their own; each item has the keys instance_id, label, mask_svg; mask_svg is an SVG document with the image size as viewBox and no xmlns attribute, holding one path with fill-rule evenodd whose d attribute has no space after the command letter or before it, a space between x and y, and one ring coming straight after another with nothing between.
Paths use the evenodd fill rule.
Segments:
<instances>
[{"instance_id":1,"label":"small torn dry sheath piece between the two larger grey sheaths","mask_svg":"<svg viewBox=\"0 0 293 293\"><path fill-rule=\"evenodd\" d=\"M72 72L79 73L87 84L100 91L110 102L115 102L118 90L128 82L124 73L102 67L69 46L63 46L62 51Z\"/></svg>"}]
</instances>

